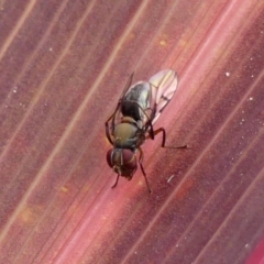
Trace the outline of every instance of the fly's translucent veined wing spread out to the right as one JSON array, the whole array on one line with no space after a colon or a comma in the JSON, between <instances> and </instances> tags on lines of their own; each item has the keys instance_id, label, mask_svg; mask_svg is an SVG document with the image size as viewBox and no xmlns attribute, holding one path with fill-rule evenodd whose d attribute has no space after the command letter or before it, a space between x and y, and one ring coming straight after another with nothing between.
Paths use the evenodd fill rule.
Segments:
<instances>
[{"instance_id":1,"label":"fly's translucent veined wing spread out to the right","mask_svg":"<svg viewBox=\"0 0 264 264\"><path fill-rule=\"evenodd\" d=\"M170 101L178 85L177 74L173 69L163 69L148 80L152 89L152 124L160 118L162 111Z\"/></svg>"}]
</instances>

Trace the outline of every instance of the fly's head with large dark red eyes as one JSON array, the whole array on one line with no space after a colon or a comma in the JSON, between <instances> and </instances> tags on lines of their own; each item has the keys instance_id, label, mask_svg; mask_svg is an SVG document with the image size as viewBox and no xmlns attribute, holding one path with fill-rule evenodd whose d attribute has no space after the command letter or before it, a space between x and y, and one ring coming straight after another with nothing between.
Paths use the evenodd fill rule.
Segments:
<instances>
[{"instance_id":1,"label":"fly's head with large dark red eyes","mask_svg":"<svg viewBox=\"0 0 264 264\"><path fill-rule=\"evenodd\" d=\"M114 173L131 179L138 168L136 156L129 148L113 148L107 153L108 165L113 168Z\"/></svg>"}]
</instances>

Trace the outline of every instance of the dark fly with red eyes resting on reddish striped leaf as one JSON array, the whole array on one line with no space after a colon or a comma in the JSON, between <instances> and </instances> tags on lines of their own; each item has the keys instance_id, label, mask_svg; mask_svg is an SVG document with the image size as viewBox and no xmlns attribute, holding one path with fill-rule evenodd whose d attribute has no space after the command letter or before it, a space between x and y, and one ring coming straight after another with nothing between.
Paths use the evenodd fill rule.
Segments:
<instances>
[{"instance_id":1,"label":"dark fly with red eyes resting on reddish striped leaf","mask_svg":"<svg viewBox=\"0 0 264 264\"><path fill-rule=\"evenodd\" d=\"M106 122L106 135L113 146L107 153L108 165L119 176L132 179L138 169L136 152L139 151L139 164L144 175L150 193L150 184L143 168L143 151L141 145L146 139L154 140L157 133L162 133L162 147L165 147L166 132L164 128L153 129L153 124L160 118L162 111L173 98L177 88L178 78L173 69L164 69L151 77L148 81L139 81L131 86L133 74L119 99L114 112ZM187 145L176 148L186 148Z\"/></svg>"}]
</instances>

